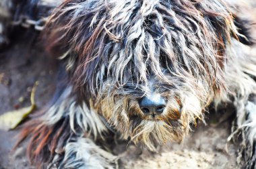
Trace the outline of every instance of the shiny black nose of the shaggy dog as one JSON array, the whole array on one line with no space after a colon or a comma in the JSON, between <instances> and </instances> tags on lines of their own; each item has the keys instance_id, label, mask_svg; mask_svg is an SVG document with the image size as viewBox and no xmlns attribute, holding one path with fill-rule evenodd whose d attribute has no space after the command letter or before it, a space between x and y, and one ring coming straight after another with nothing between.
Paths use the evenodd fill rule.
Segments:
<instances>
[{"instance_id":1,"label":"shiny black nose of the shaggy dog","mask_svg":"<svg viewBox=\"0 0 256 169\"><path fill-rule=\"evenodd\" d=\"M166 101L159 94L143 97L139 103L139 107L143 113L148 115L161 114L164 112Z\"/></svg>"}]
</instances>

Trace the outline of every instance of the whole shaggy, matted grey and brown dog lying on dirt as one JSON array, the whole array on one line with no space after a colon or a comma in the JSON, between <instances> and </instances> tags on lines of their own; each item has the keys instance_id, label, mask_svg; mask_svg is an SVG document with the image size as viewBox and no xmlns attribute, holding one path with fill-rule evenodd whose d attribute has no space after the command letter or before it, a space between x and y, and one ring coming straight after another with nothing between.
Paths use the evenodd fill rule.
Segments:
<instances>
[{"instance_id":1,"label":"whole shaggy, matted grey and brown dog lying on dirt","mask_svg":"<svg viewBox=\"0 0 256 169\"><path fill-rule=\"evenodd\" d=\"M31 162L115 168L102 146L109 133L156 151L181 142L209 107L232 105L230 137L241 136L245 166L255 168L256 56L236 13L222 0L63 1L43 31L62 80L21 133Z\"/></svg>"}]
</instances>

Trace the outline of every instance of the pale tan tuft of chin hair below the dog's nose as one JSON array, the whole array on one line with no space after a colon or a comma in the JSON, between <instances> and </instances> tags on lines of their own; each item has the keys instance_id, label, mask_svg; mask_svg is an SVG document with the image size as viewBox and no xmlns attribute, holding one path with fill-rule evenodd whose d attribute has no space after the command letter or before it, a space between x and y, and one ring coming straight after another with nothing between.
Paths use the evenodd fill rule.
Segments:
<instances>
[{"instance_id":1,"label":"pale tan tuft of chin hair below the dog's nose","mask_svg":"<svg viewBox=\"0 0 256 169\"><path fill-rule=\"evenodd\" d=\"M172 122L173 123L173 122ZM176 124L175 124L176 123ZM185 127L180 121L166 123L160 115L148 116L146 119L133 116L130 119L131 141L140 144L151 151L156 151L158 145L167 142L181 142L185 136Z\"/></svg>"}]
</instances>

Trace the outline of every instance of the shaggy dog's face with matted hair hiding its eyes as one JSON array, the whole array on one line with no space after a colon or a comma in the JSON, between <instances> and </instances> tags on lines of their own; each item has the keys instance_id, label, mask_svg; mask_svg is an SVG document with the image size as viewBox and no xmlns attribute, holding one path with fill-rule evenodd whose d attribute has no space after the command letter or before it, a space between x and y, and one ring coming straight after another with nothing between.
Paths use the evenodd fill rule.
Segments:
<instances>
[{"instance_id":1,"label":"shaggy dog's face with matted hair hiding its eyes","mask_svg":"<svg viewBox=\"0 0 256 169\"><path fill-rule=\"evenodd\" d=\"M66 1L47 27L79 99L150 150L203 119L235 34L221 0Z\"/></svg>"}]
</instances>

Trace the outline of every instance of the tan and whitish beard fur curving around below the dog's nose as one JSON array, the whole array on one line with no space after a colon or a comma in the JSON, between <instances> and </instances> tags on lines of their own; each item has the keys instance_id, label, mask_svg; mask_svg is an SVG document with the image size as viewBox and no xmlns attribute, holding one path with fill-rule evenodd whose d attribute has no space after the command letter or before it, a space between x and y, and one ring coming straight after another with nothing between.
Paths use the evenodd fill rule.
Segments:
<instances>
[{"instance_id":1,"label":"tan and whitish beard fur curving around below the dog's nose","mask_svg":"<svg viewBox=\"0 0 256 169\"><path fill-rule=\"evenodd\" d=\"M145 115L133 95L108 95L98 104L98 112L120 131L125 139L156 151L156 146L167 142L181 142L190 130L190 124L203 120L202 103L191 93L166 98L161 115Z\"/></svg>"}]
</instances>

